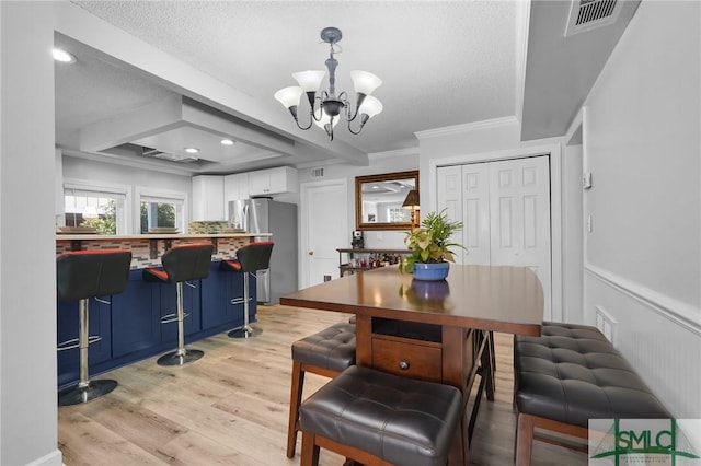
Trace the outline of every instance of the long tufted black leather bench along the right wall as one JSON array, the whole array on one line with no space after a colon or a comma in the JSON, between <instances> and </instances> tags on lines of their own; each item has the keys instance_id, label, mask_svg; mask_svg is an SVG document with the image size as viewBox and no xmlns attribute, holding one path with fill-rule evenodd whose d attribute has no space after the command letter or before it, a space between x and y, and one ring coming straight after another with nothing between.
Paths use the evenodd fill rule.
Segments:
<instances>
[{"instance_id":1,"label":"long tufted black leather bench along the right wall","mask_svg":"<svg viewBox=\"0 0 701 466\"><path fill-rule=\"evenodd\" d=\"M670 418L598 329L552 322L540 337L514 337L514 404L517 465L530 464L533 440L587 451L536 428L586 440L589 419Z\"/></svg>"}]
</instances>

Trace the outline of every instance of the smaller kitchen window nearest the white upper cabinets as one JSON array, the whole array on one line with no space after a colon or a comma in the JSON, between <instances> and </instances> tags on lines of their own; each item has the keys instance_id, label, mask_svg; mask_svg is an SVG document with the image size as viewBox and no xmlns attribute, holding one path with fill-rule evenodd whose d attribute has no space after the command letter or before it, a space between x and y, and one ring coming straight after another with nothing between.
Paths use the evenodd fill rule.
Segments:
<instances>
[{"instance_id":1,"label":"smaller kitchen window nearest the white upper cabinets","mask_svg":"<svg viewBox=\"0 0 701 466\"><path fill-rule=\"evenodd\" d=\"M186 194L139 190L139 232L154 228L176 228L184 231Z\"/></svg>"}]
</instances>

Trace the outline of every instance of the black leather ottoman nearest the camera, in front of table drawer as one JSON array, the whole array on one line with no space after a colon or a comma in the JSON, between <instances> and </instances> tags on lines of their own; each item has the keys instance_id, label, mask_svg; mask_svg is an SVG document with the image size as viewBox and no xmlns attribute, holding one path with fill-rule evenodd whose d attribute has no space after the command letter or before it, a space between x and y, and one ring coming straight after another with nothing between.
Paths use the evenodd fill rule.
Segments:
<instances>
[{"instance_id":1,"label":"black leather ottoman nearest the camera, in front of table drawer","mask_svg":"<svg viewBox=\"0 0 701 466\"><path fill-rule=\"evenodd\" d=\"M302 403L301 464L321 445L364 464L446 465L462 408L453 386L352 366Z\"/></svg>"}]
</instances>

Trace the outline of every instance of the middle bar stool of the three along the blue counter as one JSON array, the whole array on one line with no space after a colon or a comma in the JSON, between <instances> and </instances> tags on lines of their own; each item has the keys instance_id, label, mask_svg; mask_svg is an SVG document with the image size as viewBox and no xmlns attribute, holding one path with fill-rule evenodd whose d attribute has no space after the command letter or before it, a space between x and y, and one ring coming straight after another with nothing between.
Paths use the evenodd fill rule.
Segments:
<instances>
[{"instance_id":1,"label":"middle bar stool of the three along the blue counter","mask_svg":"<svg viewBox=\"0 0 701 466\"><path fill-rule=\"evenodd\" d=\"M148 267L141 272L146 281L175 283L177 311L174 314L163 316L161 324L177 322L177 349L160 357L157 361L159 365L183 365L197 361L205 354L204 351L185 348L184 319L189 314L185 314L183 310L183 282L209 277L212 252L214 245L211 243L173 246L161 258L163 269Z\"/></svg>"}]
</instances>

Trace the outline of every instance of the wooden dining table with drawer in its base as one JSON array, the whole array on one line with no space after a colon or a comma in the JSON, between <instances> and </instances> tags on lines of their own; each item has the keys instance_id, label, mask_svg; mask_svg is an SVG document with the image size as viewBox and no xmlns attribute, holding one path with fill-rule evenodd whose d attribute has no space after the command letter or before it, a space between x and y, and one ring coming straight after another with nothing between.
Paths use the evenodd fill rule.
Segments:
<instances>
[{"instance_id":1,"label":"wooden dining table with drawer in its base","mask_svg":"<svg viewBox=\"0 0 701 466\"><path fill-rule=\"evenodd\" d=\"M450 464L467 465L483 392L494 399L493 333L540 335L543 290L526 267L450 265L446 280L380 267L299 290L280 304L356 315L356 364L458 387L467 408ZM458 443L458 442L456 442Z\"/></svg>"}]
</instances>

